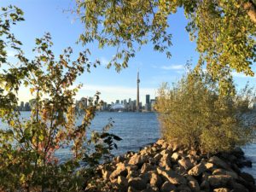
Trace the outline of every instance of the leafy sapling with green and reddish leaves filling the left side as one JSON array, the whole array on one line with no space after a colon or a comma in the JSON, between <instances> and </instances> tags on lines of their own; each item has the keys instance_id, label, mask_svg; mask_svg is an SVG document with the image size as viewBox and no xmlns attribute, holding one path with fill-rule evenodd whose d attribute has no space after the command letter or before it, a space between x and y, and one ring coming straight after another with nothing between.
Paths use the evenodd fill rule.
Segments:
<instances>
[{"instance_id":1,"label":"leafy sapling with green and reddish leaves filling the left side","mask_svg":"<svg viewBox=\"0 0 256 192\"><path fill-rule=\"evenodd\" d=\"M86 178L95 172L94 166L100 160L109 160L110 151L117 148L114 141L120 140L108 133L112 120L102 132L92 131L88 137L99 93L84 108L81 124L76 122L74 97L81 84L74 84L93 65L87 58L89 51L79 53L76 60L72 60L71 48L55 56L51 37L46 33L36 39L35 57L30 61L10 31L17 21L24 20L23 12L13 6L1 10L0 191L81 191ZM16 51L17 65L9 61L7 49ZM20 118L18 110L21 84L33 97L29 119ZM28 106L26 102L25 108ZM55 152L63 147L71 148L73 157L60 164ZM81 167L81 160L89 167Z\"/></svg>"}]
</instances>

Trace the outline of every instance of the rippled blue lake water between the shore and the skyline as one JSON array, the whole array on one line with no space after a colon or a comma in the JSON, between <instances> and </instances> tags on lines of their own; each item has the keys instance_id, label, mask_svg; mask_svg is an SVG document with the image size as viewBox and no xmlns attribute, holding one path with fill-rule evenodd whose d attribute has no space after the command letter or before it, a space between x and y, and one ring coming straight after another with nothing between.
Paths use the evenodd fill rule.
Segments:
<instances>
[{"instance_id":1,"label":"rippled blue lake water between the shore and the skyline","mask_svg":"<svg viewBox=\"0 0 256 192\"><path fill-rule=\"evenodd\" d=\"M21 115L28 118L30 112L22 112ZM90 130L101 131L102 127L108 124L110 118L114 121L110 132L122 138L122 141L117 143L119 148L113 150L113 154L137 151L148 143L154 143L160 137L160 125L155 113L97 113ZM256 144L246 146L243 149L247 159L253 161L253 168L244 168L244 171L256 178ZM56 156L61 160L69 158L68 148L60 149Z\"/></svg>"}]
</instances>

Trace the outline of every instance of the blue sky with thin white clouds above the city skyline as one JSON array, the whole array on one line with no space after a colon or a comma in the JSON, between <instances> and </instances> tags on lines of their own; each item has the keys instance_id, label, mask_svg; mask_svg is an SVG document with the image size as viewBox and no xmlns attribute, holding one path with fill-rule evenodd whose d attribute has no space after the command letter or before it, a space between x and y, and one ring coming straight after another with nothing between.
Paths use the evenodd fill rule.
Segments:
<instances>
[{"instance_id":1,"label":"blue sky with thin white clouds above the city skyline","mask_svg":"<svg viewBox=\"0 0 256 192\"><path fill-rule=\"evenodd\" d=\"M88 47L76 44L79 35L83 32L83 24L76 15L72 15L70 9L74 8L74 0L0 0L1 6L13 4L25 13L25 21L13 27L12 32L23 43L27 57L32 55L35 47L35 38L41 38L45 32L50 32L54 42L55 54L68 46L73 47L74 54L78 54ZM102 61L102 66L93 68L91 73L84 73L79 77L77 84L84 84L79 90L77 99L82 96L93 96L96 91L101 92L101 99L106 102L116 100L133 99L137 97L137 70L140 73L140 101L145 103L145 95L151 99L156 96L160 84L163 82L177 82L184 73L184 65L191 60L196 63L198 54L195 51L195 42L190 42L189 34L185 31L188 20L179 9L176 15L169 18L169 32L172 32L171 59L165 54L154 51L153 45L143 46L135 58L129 62L129 67L117 73L114 67L106 68L106 64L112 58L114 49L98 49L97 44L90 44L91 61L96 58ZM8 50L9 57L14 56ZM254 78L248 78L243 73L234 73L234 79L238 87L244 86L247 81L254 84ZM29 90L20 89L20 101L27 102L32 97Z\"/></svg>"}]
</instances>

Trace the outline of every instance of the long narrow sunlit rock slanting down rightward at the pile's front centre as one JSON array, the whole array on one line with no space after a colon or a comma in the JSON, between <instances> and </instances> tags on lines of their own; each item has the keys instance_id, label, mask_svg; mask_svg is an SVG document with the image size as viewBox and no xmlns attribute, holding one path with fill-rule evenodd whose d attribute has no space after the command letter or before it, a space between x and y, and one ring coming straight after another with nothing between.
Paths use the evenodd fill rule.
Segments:
<instances>
[{"instance_id":1,"label":"long narrow sunlit rock slanting down rightward at the pile's front centre","mask_svg":"<svg viewBox=\"0 0 256 192\"><path fill-rule=\"evenodd\" d=\"M185 177L182 177L178 175L176 172L172 170L165 170L163 168L157 167L157 172L162 175L163 177L166 177L166 179L172 183L172 184L186 184L187 179Z\"/></svg>"}]
</instances>

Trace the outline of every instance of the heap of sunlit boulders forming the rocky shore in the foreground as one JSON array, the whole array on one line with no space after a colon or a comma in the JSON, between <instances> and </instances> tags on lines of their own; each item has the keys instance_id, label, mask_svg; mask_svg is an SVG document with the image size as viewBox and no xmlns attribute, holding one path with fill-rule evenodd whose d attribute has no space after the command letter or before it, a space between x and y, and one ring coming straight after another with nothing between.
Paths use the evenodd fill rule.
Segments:
<instances>
[{"instance_id":1,"label":"heap of sunlit boulders forming the rocky shore in the foreground","mask_svg":"<svg viewBox=\"0 0 256 192\"><path fill-rule=\"evenodd\" d=\"M160 139L138 153L128 152L98 166L85 191L128 192L256 192L252 166L241 148L230 153L200 155Z\"/></svg>"}]
</instances>

